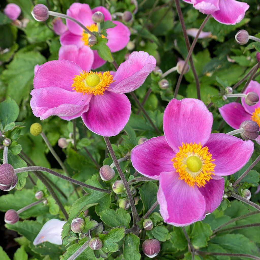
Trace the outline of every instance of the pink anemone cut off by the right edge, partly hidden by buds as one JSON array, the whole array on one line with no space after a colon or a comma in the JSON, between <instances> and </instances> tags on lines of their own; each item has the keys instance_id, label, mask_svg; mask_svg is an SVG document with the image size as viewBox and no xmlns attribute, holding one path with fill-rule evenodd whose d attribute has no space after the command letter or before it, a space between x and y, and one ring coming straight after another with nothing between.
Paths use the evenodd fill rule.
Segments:
<instances>
[{"instance_id":1,"label":"pink anemone cut off by the right edge, partly hidden by buds","mask_svg":"<svg viewBox=\"0 0 260 260\"><path fill-rule=\"evenodd\" d=\"M260 84L257 81L251 80L244 91L255 92L260 97ZM233 128L239 129L240 125L245 120L253 120L257 122L260 130L260 100L254 105L249 106L245 102L245 98L241 98L241 103L231 102L219 108L219 112L223 119ZM256 138L256 142L260 144L260 135Z\"/></svg>"}]
</instances>

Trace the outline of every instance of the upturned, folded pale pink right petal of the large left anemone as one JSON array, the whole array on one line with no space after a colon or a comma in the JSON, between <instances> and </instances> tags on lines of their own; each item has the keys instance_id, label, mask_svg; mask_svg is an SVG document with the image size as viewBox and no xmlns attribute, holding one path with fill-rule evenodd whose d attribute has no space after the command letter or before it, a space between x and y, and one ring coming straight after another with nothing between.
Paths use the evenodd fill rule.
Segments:
<instances>
[{"instance_id":1,"label":"upturned, folded pale pink right petal of the large left anemone","mask_svg":"<svg viewBox=\"0 0 260 260\"><path fill-rule=\"evenodd\" d=\"M139 88L155 67L156 60L144 51L132 52L128 59L121 63L116 71L109 90L116 93L127 93Z\"/></svg>"}]
</instances>

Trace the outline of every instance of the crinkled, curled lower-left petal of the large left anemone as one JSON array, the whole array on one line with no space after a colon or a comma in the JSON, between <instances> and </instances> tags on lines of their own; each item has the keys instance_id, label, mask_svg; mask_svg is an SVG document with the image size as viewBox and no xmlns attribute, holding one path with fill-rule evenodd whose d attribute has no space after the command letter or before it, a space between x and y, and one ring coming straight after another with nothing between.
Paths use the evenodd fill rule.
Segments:
<instances>
[{"instance_id":1,"label":"crinkled, curled lower-left petal of the large left anemone","mask_svg":"<svg viewBox=\"0 0 260 260\"><path fill-rule=\"evenodd\" d=\"M92 95L70 92L59 87L37 88L33 89L30 94L33 114L41 120L51 115L70 116L67 120L80 116L81 114L77 114L88 110L92 97Z\"/></svg>"}]
</instances>

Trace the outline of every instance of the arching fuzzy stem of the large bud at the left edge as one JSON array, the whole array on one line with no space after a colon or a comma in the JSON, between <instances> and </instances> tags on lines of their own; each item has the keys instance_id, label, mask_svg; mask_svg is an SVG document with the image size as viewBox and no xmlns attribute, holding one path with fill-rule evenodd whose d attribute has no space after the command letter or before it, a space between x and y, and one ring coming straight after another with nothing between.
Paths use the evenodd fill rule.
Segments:
<instances>
[{"instance_id":1,"label":"arching fuzzy stem of the large bud at the left edge","mask_svg":"<svg viewBox=\"0 0 260 260\"><path fill-rule=\"evenodd\" d=\"M105 189L101 189L101 188L97 188L97 187L94 187L94 186L91 186L91 185L88 185L86 183L83 183L81 181L78 181L78 180L74 180L68 176L64 176L58 172L55 172L49 168L46 168L46 167L41 167L41 166L30 166L30 167L22 167L22 168L17 168L15 169L15 173L19 173L19 172L27 172L27 171L42 171L42 172L48 172L50 174L53 174L63 180L67 180L69 182L72 182L72 183L75 183L81 187L85 187L85 188L88 188L88 189L91 189L91 190L95 190L95 191L100 191L100 192L105 192L105 193L110 193L111 191L110 190L105 190Z\"/></svg>"}]
</instances>

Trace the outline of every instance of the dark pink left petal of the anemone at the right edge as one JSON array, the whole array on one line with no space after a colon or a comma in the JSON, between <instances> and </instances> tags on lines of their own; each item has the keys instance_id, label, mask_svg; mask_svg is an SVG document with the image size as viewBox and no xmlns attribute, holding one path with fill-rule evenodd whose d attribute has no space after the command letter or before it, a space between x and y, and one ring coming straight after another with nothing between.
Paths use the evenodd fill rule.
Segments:
<instances>
[{"instance_id":1,"label":"dark pink left petal of the anemone at the right edge","mask_svg":"<svg viewBox=\"0 0 260 260\"><path fill-rule=\"evenodd\" d=\"M235 129L238 129L243 121L251 120L251 115L237 102L228 103L218 110L223 119Z\"/></svg>"}]
</instances>

